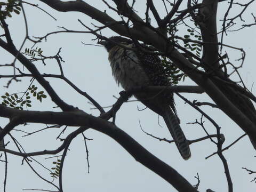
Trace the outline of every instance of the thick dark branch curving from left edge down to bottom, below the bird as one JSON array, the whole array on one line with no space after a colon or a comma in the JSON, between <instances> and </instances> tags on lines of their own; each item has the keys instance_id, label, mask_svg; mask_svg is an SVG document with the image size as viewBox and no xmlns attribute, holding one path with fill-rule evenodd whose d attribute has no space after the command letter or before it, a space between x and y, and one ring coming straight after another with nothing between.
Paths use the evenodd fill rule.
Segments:
<instances>
[{"instance_id":1,"label":"thick dark branch curving from left edge down to bottom, below the bird","mask_svg":"<svg viewBox=\"0 0 256 192\"><path fill-rule=\"evenodd\" d=\"M148 167L151 171L154 171L178 191L197 191L171 166L149 153L149 151L143 148L137 141L130 137L130 135L104 119L86 114L83 111L21 111L0 105L0 116L11 118L17 115L23 122L92 127L92 129L105 133L113 138L119 145L127 150L136 161ZM3 137L4 135L1 134L0 140Z\"/></svg>"}]
</instances>

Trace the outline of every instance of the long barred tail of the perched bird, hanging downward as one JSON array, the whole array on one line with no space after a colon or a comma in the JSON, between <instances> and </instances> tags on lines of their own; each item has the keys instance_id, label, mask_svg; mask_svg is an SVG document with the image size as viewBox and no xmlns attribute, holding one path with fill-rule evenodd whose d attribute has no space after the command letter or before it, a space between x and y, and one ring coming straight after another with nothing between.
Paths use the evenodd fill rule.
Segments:
<instances>
[{"instance_id":1,"label":"long barred tail of the perched bird, hanging downward","mask_svg":"<svg viewBox=\"0 0 256 192\"><path fill-rule=\"evenodd\" d=\"M175 144L180 152L183 159L187 160L191 156L188 141L181 130L178 123L177 116L173 113L170 107L166 108L165 114L163 116L164 121L175 141Z\"/></svg>"}]
</instances>

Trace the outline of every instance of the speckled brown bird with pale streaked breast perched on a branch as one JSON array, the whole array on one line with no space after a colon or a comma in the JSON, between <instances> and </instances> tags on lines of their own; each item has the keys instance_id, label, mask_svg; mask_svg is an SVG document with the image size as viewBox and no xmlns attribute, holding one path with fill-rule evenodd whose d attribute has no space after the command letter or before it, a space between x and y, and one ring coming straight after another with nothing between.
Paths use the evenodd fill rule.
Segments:
<instances>
[{"instance_id":1,"label":"speckled brown bird with pale streaked breast perched on a branch","mask_svg":"<svg viewBox=\"0 0 256 192\"><path fill-rule=\"evenodd\" d=\"M112 36L99 44L106 48L114 79L124 90L171 85L161 59L156 54L142 51L131 39ZM140 46L146 48L145 44ZM173 93L138 92L134 93L134 97L163 117L182 158L189 159L189 143L179 125L180 119L175 109Z\"/></svg>"}]
</instances>

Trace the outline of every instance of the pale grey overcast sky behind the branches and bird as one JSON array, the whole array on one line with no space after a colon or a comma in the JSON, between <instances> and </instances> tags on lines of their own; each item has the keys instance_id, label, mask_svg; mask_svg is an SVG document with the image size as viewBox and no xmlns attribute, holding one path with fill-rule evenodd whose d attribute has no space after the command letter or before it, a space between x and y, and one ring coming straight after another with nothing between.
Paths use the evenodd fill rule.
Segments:
<instances>
[{"instance_id":1,"label":"pale grey overcast sky behind the branches and bird","mask_svg":"<svg viewBox=\"0 0 256 192\"><path fill-rule=\"evenodd\" d=\"M57 26L63 26L72 30L86 30L77 21L81 19L83 23L91 26L91 22L95 25L100 25L97 21L92 20L90 17L82 13L60 13L50 9L39 1L28 0L30 3L37 3L43 9L52 14L58 21L54 21L49 15L35 9L28 5L24 5L28 20L29 36L43 36L51 31L60 30ZM107 7L101 1L86 1L87 3L94 5L97 9L106 10ZM145 2L137 1L135 3L135 10L141 17L144 17ZM163 9L162 1L154 1L159 13L163 16L165 11ZM255 5L252 5L252 7ZM227 10L228 4L223 2L219 4L217 19L223 18L223 14ZM238 6L234 6L233 13L238 12ZM244 18L247 23L251 23L252 17L250 15L254 10L247 10L247 14ZM118 16L111 11L107 11L114 18L118 19ZM238 21L236 21L239 23ZM25 25L22 15L13 14L13 18L7 19L11 30L13 41L17 47L19 47L25 37ZM188 22L189 23L189 22ZM190 23L191 24L191 23ZM218 29L220 30L222 22L218 22ZM237 26L238 28L238 26ZM187 28L180 28L177 35L183 37L186 34ZM113 31L105 29L102 31L103 35L109 37L116 35ZM3 34L3 31L1 31ZM41 47L44 55L55 55L59 47L62 47L60 55L65 63L62 63L65 76L69 78L71 82L76 84L79 89L86 91L102 106L112 105L116 99L113 95L118 97L118 93L122 91L122 87L118 87L111 76L111 69L108 62L108 55L103 47L84 45L83 43L95 44L92 41L94 36L91 34L57 34L51 35L47 38L47 42L43 41L36 46ZM230 44L236 47L242 47L246 51L246 59L244 67L240 69L240 73L247 87L251 90L253 82L255 81L255 27L247 28L242 31L229 33L225 36L225 44ZM26 42L25 47L31 47L33 44L29 41ZM24 49L23 49L24 50ZM239 62L235 59L241 57L239 51L233 51L225 49L229 58L234 63ZM223 52L224 53L224 52ZM222 54L223 54L222 53ZM1 64L11 63L13 57L0 48ZM17 62L18 63L18 62ZM47 65L44 66L42 62L36 63L36 67L41 73L47 74L60 74L58 65L54 60L47 60ZM17 67L23 70L20 64ZM27 72L25 69L24 72ZM12 74L11 68L1 68L1 75ZM237 79L234 76L233 79ZM22 82L12 82L9 89L6 89L4 85L9 79L1 79L1 92L15 93L22 92L27 89L30 78L22 78ZM50 84L53 86L59 96L69 103L86 111L86 113L92 115L99 115L99 111L91 110L93 106L88 103L87 99L79 95L75 90L71 89L65 82L60 79L50 79ZM39 90L43 90L37 82L34 82L38 86ZM180 82L180 85L195 85L192 81L186 78L185 82ZM252 87L254 93L254 87ZM206 94L182 94L186 98L198 101L211 101ZM131 98L134 100L134 98ZM42 103L37 100L33 100L33 107L31 110L53 110L59 111L59 109L53 108L55 105L49 97L44 99ZM195 122L195 119L200 119L201 115L185 104L180 98L175 95L175 102L178 111L178 115L181 119L181 127L185 132L187 139L193 140L200 137L204 137L205 133L202 127L195 124L187 124L189 122ZM199 191L205 191L207 188L211 188L214 191L227 191L227 181L223 170L220 158L215 155L207 160L205 157L212 154L217 150L217 147L205 140L202 142L193 143L190 145L191 158L188 161L184 161L176 146L171 143L160 142L153 139L143 133L140 130L139 120L141 122L143 130L148 133L154 134L160 138L172 139L169 131L162 118L150 111L149 109L138 111L137 106L142 109L144 106L140 102L125 103L118 111L116 117L116 125L130 134L135 140L137 140L143 147L160 158L165 163L172 166L180 174L183 175L191 184L195 185L197 180L194 176L198 173L201 183ZM213 109L211 107L202 107L202 109L209 114L220 126L221 133L225 134L226 141L223 147L229 145L235 139L243 134L243 131L232 122L222 111ZM0 118L0 125L4 127L9 119ZM27 126L18 126L17 129L22 129L26 132L33 132L38 129L42 129L45 125L41 124L29 124ZM205 127L209 133L214 134L215 128L207 120L205 120ZM74 131L76 127L68 127L65 134L61 138L65 138L68 133ZM24 133L19 131L12 131L11 133L22 143L26 152L39 151L44 149L55 149L61 145L59 140L55 140L60 129L46 130L33 134L29 137L21 137ZM87 173L86 163L86 151L84 147L84 141L82 135L78 135L77 138L71 142L70 150L67 153L63 169L63 190L64 191L175 191L175 189L157 174L151 172L146 167L136 162L121 146L114 140L110 139L106 135L94 130L87 130L85 132L87 138L93 139L87 141L89 147L89 160L90 160L90 173ZM10 138L6 137L5 142ZM17 150L15 146L10 143L7 148ZM253 150L250 141L247 137L244 137L241 141L236 143L235 146L226 150L225 155L231 178L233 180L234 191L253 191L256 187L256 183L250 182L254 177L247 174L242 167L256 170L255 167L255 150ZM22 158L13 155L8 155L8 176L7 176L7 191L21 191L22 189L49 189L56 190L48 183L42 181L33 173L28 165L25 163L21 165ZM44 159L50 157L49 155L44 157L36 157L39 162L43 163L47 168L54 167L53 161L56 158ZM35 162L32 162L39 173L51 180L49 171L42 169ZM4 180L4 163L0 164L0 182ZM55 181L58 185L58 181ZM2 187L2 185L0 185ZM1 189L2 190L2 189Z\"/></svg>"}]
</instances>

